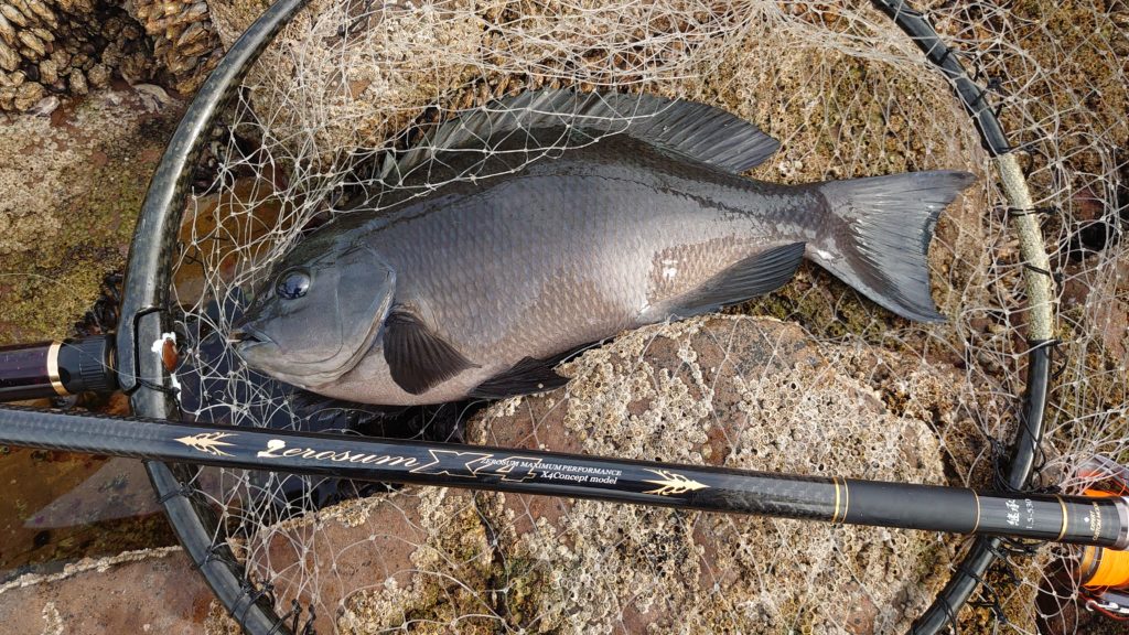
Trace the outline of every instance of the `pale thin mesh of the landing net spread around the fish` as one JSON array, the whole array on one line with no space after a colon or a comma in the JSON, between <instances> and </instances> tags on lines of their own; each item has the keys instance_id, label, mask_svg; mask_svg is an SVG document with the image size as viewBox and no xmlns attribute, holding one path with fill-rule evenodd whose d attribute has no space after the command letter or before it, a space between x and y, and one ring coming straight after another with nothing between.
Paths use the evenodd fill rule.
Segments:
<instances>
[{"instance_id":1,"label":"pale thin mesh of the landing net spread around the fish","mask_svg":"<svg viewBox=\"0 0 1129 635\"><path fill-rule=\"evenodd\" d=\"M991 487L1031 346L1008 215L1033 214L1058 278L1061 341L1036 486L1080 490L1088 456L1129 459L1129 10L1096 0L919 7L992 89L987 105L1000 108L1035 197L1034 209L1009 211L947 81L889 18L855 5L315 1L252 69L196 166L175 276L182 405L233 425L309 425L288 389L235 357L230 324L304 229L467 177L425 162L426 179L380 182L390 153L426 147L460 111L527 89L647 92L723 107L778 138L781 150L752 173L767 181L977 173L930 251L947 323L895 319L805 266L733 315L624 333L571 362L566 389L491 405L465 429L429 411L382 432ZM211 3L224 43L261 9ZM552 149L531 139L523 151L536 160ZM965 546L257 472L202 472L196 485L221 511L216 541L236 546L280 611L295 598L314 607L320 632L904 630ZM1087 617L1057 579L1062 553L1019 551L962 625L1077 630Z\"/></svg>"}]
</instances>

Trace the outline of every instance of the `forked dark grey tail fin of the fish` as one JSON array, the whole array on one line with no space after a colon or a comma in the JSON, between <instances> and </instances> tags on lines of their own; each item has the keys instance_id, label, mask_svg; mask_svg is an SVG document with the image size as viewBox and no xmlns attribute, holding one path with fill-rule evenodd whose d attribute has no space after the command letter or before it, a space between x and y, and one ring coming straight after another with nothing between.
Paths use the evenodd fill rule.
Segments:
<instances>
[{"instance_id":1,"label":"forked dark grey tail fin of the fish","mask_svg":"<svg viewBox=\"0 0 1129 635\"><path fill-rule=\"evenodd\" d=\"M974 180L935 171L823 183L842 224L809 245L808 258L903 318L942 322L929 293L929 242L940 211Z\"/></svg>"}]
</instances>

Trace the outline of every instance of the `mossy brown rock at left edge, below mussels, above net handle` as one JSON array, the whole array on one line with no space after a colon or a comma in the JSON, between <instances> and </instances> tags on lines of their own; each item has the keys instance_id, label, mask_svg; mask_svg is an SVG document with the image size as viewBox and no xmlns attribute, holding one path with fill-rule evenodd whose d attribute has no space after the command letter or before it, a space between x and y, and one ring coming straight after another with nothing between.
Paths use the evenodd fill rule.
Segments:
<instances>
[{"instance_id":1,"label":"mossy brown rock at left edge, below mussels, above net handle","mask_svg":"<svg viewBox=\"0 0 1129 635\"><path fill-rule=\"evenodd\" d=\"M21 92L21 108L47 97L26 81L0 88L0 102L7 90ZM176 101L148 113L131 90L103 92L51 119L12 115L0 125L0 342L67 336L103 277L124 267L150 173L182 108Z\"/></svg>"}]
</instances>

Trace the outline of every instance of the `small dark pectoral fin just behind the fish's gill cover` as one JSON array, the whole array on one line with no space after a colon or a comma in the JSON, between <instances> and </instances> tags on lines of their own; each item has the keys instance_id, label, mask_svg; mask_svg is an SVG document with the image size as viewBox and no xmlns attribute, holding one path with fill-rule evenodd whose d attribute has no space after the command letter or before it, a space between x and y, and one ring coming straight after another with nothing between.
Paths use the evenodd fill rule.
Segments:
<instances>
[{"instance_id":1,"label":"small dark pectoral fin just behind the fish's gill cover","mask_svg":"<svg viewBox=\"0 0 1129 635\"><path fill-rule=\"evenodd\" d=\"M479 367L401 307L393 308L384 321L384 360L392 380L411 394L421 394L467 368Z\"/></svg>"}]
</instances>

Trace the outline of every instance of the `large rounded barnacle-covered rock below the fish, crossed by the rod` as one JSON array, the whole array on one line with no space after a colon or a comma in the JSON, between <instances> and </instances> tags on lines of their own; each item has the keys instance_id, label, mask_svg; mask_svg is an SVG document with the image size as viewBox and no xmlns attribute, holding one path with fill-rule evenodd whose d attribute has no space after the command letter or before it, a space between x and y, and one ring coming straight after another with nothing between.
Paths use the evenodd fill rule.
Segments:
<instances>
[{"instance_id":1,"label":"large rounded barnacle-covered rock below the fish, crossed by the rod","mask_svg":"<svg viewBox=\"0 0 1129 635\"><path fill-rule=\"evenodd\" d=\"M890 414L791 324L714 316L641 329L567 373L564 394L492 407L479 441L944 482L930 427ZM859 632L858 620L865 632L903 630L947 562L933 536L889 529L513 495L489 517L507 557L537 563L530 584L555 577L535 585L526 610L563 630L842 633ZM864 599L874 610L855 610Z\"/></svg>"}]
</instances>

